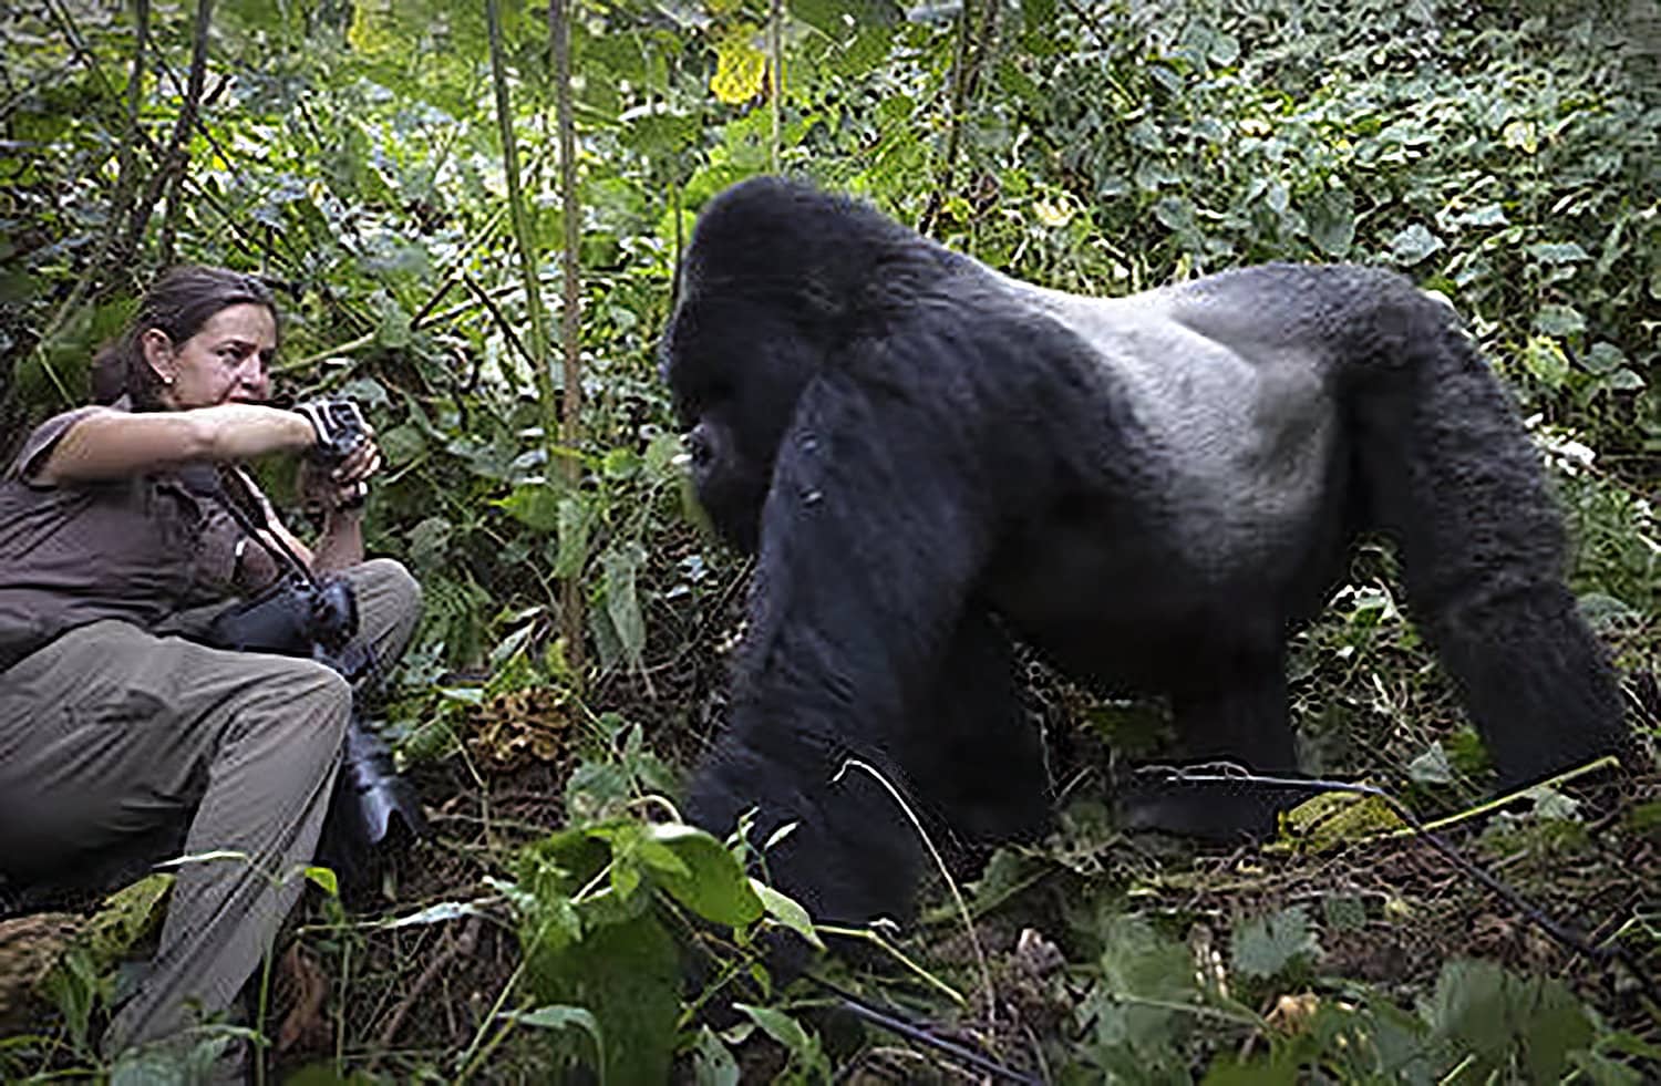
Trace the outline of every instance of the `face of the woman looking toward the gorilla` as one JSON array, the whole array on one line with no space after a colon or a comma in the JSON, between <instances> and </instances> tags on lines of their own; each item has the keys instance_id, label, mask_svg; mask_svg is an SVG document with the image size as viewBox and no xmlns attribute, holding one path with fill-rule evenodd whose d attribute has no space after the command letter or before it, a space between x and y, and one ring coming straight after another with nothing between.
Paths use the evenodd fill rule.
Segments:
<instances>
[{"instance_id":1,"label":"face of the woman looking toward the gorilla","mask_svg":"<svg viewBox=\"0 0 1661 1086\"><path fill-rule=\"evenodd\" d=\"M161 377L166 407L257 404L271 395L277 319L264 306L226 306L183 344L174 344L161 329L149 329L143 344L145 360Z\"/></svg>"}]
</instances>

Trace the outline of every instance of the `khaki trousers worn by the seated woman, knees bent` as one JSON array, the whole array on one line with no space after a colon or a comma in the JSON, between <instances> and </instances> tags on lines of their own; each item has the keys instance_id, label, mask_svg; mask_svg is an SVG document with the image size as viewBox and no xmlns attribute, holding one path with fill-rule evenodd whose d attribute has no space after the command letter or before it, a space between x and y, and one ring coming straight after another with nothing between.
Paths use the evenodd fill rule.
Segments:
<instances>
[{"instance_id":1,"label":"khaki trousers worn by the seated woman, knees bent","mask_svg":"<svg viewBox=\"0 0 1661 1086\"><path fill-rule=\"evenodd\" d=\"M390 668L420 589L395 561L342 571L360 638ZM0 870L189 819L161 945L105 1038L116 1053L224 1011L294 907L339 767L352 689L289 656L211 649L120 621L73 629L0 673ZM191 814L194 812L194 814Z\"/></svg>"}]
</instances>

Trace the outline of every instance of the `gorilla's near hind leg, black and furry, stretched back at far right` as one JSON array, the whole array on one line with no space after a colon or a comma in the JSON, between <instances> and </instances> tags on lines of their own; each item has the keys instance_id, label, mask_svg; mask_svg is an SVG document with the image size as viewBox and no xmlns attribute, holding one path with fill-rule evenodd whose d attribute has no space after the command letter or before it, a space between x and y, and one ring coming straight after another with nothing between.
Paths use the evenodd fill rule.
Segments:
<instances>
[{"instance_id":1,"label":"gorilla's near hind leg, black and furry, stretched back at far right","mask_svg":"<svg viewBox=\"0 0 1661 1086\"><path fill-rule=\"evenodd\" d=\"M1505 390L1435 302L1385 306L1370 335L1354 392L1370 510L1502 785L1618 752L1614 673L1563 583L1561 520Z\"/></svg>"}]
</instances>

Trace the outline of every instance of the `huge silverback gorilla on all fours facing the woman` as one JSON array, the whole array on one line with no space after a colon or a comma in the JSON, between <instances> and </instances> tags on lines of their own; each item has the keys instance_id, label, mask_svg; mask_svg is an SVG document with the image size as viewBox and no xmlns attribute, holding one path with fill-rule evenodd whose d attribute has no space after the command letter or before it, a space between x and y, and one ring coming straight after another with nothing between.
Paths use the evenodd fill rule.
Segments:
<instances>
[{"instance_id":1,"label":"huge silverback gorilla on all fours facing the woman","mask_svg":"<svg viewBox=\"0 0 1661 1086\"><path fill-rule=\"evenodd\" d=\"M1390 538L1505 784L1626 734L1563 528L1448 306L1375 269L1266 266L1121 299L1035 287L850 199L752 179L701 214L663 340L693 478L757 555L731 719L688 797L757 807L816 917L900 915L920 842L1046 815L1010 638L1166 694L1196 761L1294 772L1286 639ZM1144 825L1264 832L1159 800ZM1267 820L1267 822L1266 822Z\"/></svg>"}]
</instances>

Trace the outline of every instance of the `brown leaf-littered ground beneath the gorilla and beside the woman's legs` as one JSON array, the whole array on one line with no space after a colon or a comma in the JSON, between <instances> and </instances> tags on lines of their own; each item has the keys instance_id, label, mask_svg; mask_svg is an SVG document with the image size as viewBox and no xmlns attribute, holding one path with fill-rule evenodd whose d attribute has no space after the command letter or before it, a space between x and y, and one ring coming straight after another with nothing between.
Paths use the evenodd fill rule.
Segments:
<instances>
[{"instance_id":1,"label":"brown leaf-littered ground beneath the gorilla and beside the woman's legs","mask_svg":"<svg viewBox=\"0 0 1661 1086\"><path fill-rule=\"evenodd\" d=\"M688 719L718 704L726 682L718 641L683 646L648 671L649 682L613 679L586 704L641 724L666 762L691 764L704 739ZM1656 676L1629 674L1626 689L1639 724L1654 727ZM1066 689L1050 696L1063 707L1073 697ZM272 1081L316 1064L394 1081L448 1079L465 1064L478 1081L538 1079L535 1033L507 1036L495 1025L502 1006L515 1005L522 955L513 915L492 880L507 877L517 849L565 824L568 785L583 770L580 727L570 697L533 687L487 699L458 732L465 739L452 756L410 772L432 834L390 854L379 885L342 895L345 912L309 890L279 942L266 1013ZM1226 948L1242 920L1302 910L1320 932L1304 966L1277 986L1234 981L1234 998L1249 1000L1272 1030L1299 1030L1322 1001L1352 998L1355 986L1404 1008L1423 1005L1448 961L1480 958L1556 976L1608 1030L1661 1046L1661 1008L1646 1005L1633 963L1576 951L1545 927L1570 928L1593 947L1636 948L1636 966L1661 976L1661 770L1653 764L1556 789L1580 804L1573 820L1550 824L1556 829L1530 820L1528 802L1440 829L1438 839L1520 895L1507 900L1414 834L1249 849L1118 834L1100 819L1101 797L1093 794L1103 787L1101 754L1088 737L1053 744L1056 779L1070 782L1076 807L1051 839L1008 850L1002 865L965 885L973 938L937 885L927 898L937 905L902 940L912 960L963 993L960 1005L922 995L894 970L832 966L830 975L884 1006L907 1008L902 1016L937 1038L1041 1073L1045 1051L1093 1026L1090 973L1073 968L1100 953L1081 902L1100 908L1111 898L1115 908L1178 933L1198 968L1214 963L1211 980L1224 990L1227 966L1209 950ZM1523 844L1500 847L1508 834ZM387 923L400 917L415 920ZM42 976L86 925L75 913L0 922L0 976L13 980L10 993L0 985L0 1038L61 1031L61 1003L53 1008L15 981ZM1644 938L1628 938L1623 925L1644 927ZM816 1001L824 1003L822 993L804 995L804 1005ZM827 1048L844 1049L842 1081L985 1081L880 1030L854 1030L849 1041L849 1023L835 1013L811 1020ZM1249 1054L1266 1043L1261 1030L1234 1023L1203 1038L1196 1059L1224 1044ZM764 1081L782 1066L777 1046L759 1035L737 1053L744 1081ZM68 1049L58 1066L75 1066ZM686 1059L676 1066L693 1081Z\"/></svg>"}]
</instances>

